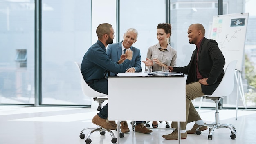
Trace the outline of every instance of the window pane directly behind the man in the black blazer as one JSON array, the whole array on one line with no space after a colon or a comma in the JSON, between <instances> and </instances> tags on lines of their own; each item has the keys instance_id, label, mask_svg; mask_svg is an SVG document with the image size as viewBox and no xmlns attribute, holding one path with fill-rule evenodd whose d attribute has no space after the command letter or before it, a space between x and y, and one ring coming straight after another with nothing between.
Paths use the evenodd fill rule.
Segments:
<instances>
[{"instance_id":1,"label":"window pane directly behind the man in the black blazer","mask_svg":"<svg viewBox=\"0 0 256 144\"><path fill-rule=\"evenodd\" d=\"M188 28L191 24L200 23L206 29L206 38L209 38L211 21L218 14L217 0L171 0L170 7L173 26L171 46L177 50L177 66L187 66L195 50L195 45L189 44ZM195 99L195 106L198 106L199 100ZM213 102L208 101L214 106Z\"/></svg>"}]
</instances>

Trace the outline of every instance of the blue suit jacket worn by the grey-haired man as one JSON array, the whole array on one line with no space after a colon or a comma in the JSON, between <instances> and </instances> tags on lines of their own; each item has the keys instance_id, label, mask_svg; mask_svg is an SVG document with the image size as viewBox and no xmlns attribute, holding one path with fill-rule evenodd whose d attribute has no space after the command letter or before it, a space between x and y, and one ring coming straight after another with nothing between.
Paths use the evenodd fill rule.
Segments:
<instances>
[{"instance_id":1,"label":"blue suit jacket worn by the grey-haired man","mask_svg":"<svg viewBox=\"0 0 256 144\"><path fill-rule=\"evenodd\" d=\"M107 48L107 54L111 60L114 62L117 62L120 60L120 57L122 55L122 42L115 43L115 44L109 44ZM140 50L136 47L130 47L130 50L133 51L133 56L131 63L129 64L128 68L134 67L136 69L135 72L141 72L141 55ZM110 75L115 75L114 73L110 73Z\"/></svg>"}]
</instances>

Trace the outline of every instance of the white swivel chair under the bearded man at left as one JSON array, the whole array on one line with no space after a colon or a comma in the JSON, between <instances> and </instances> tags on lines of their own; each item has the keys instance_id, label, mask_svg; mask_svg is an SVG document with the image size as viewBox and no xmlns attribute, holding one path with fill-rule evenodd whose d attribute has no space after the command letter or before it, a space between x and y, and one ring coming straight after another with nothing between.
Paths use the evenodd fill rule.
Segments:
<instances>
[{"instance_id":1,"label":"white swivel chair under the bearded man at left","mask_svg":"<svg viewBox=\"0 0 256 144\"><path fill-rule=\"evenodd\" d=\"M101 107L102 107L102 103L105 100L108 100L108 95L103 94L103 93L99 93L99 92L95 91L94 89L92 89L90 86L88 86L88 84L83 79L83 75L81 73L81 64L79 62L75 62L75 64L77 66L77 69L79 71L79 75L80 75L80 78L81 78L81 86L82 86L83 94L88 96L88 97L92 97L94 101L98 102L99 106L98 106L97 110L100 111ZM105 131L107 131L108 133L110 133L110 135L112 137L112 140L111 140L112 143L117 142L117 138L115 138L114 133L112 131L110 131L109 129L102 128L101 126L98 126L97 128L83 128L83 130L81 131L81 133L79 135L79 137L81 139L85 138L85 134L83 134L83 131L85 131L87 129L90 129L91 131L89 131L88 134L86 135L86 140L85 140L86 144L90 144L92 142L92 140L90 139L90 135L95 131L99 131L101 135L105 135ZM123 135L120 134L120 137L123 136Z\"/></svg>"}]
</instances>

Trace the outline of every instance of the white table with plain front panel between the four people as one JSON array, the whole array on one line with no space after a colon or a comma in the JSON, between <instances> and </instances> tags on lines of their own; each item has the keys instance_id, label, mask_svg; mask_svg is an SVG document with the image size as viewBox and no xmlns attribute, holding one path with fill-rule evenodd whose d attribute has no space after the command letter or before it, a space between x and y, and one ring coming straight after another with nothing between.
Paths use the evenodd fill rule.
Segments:
<instances>
[{"instance_id":1,"label":"white table with plain front panel between the four people","mask_svg":"<svg viewBox=\"0 0 256 144\"><path fill-rule=\"evenodd\" d=\"M109 77L108 120L177 121L180 132L180 122L186 121L185 88L185 77Z\"/></svg>"}]
</instances>

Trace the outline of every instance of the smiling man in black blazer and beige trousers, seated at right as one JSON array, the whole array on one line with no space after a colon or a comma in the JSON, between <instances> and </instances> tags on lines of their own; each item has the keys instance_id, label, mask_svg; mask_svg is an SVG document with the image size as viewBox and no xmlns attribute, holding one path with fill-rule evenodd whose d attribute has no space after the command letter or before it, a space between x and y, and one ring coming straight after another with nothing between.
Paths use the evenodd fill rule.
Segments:
<instances>
[{"instance_id":1,"label":"smiling man in black blazer and beige trousers, seated at right","mask_svg":"<svg viewBox=\"0 0 256 144\"><path fill-rule=\"evenodd\" d=\"M205 29L202 24L191 24L188 29L188 38L190 44L195 44L189 65L184 67L171 67L172 72L182 72L187 74L186 80L186 122L180 122L181 139L186 139L187 134L195 133L195 129L205 124L199 116L191 100L211 95L220 84L225 65L225 59L215 40L204 37ZM186 124L194 122L191 130L186 131ZM176 128L173 133L163 135L167 140L177 140L177 122L172 122L172 128ZM199 130L204 131L207 126Z\"/></svg>"}]
</instances>

